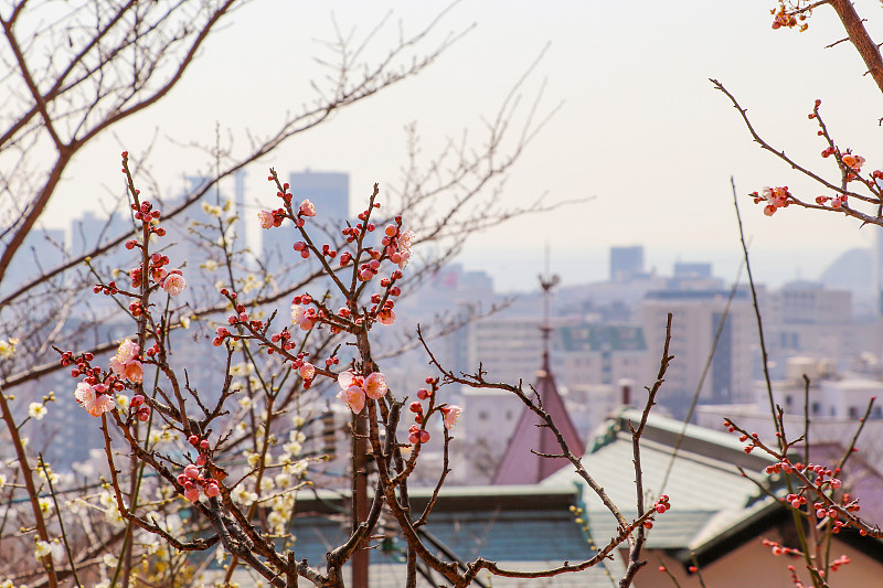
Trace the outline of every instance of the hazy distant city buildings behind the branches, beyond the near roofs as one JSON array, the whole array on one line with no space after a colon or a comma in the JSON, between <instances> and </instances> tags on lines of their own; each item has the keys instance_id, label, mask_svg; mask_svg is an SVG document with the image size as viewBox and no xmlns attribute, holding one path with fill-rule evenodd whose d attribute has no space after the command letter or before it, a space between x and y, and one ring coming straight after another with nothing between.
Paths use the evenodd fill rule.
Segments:
<instances>
[{"instance_id":1,"label":"hazy distant city buildings behind the branches, beyond the near roofs","mask_svg":"<svg viewBox=\"0 0 883 588\"><path fill-rule=\"evenodd\" d=\"M307 170L291 173L288 180L296 196L309 195L328 220L329 236L353 210L345 173ZM201 181L191 179L191 188ZM232 197L219 194L212 206L226 205L225 214L240 211L233 231L259 250L255 258L270 269L273 280L281 285L306 279L316 268L290 254L290 243L296 240L291 227L259 235L247 227L255 223L251 223L254 213L246 207L245 184L241 174ZM216 297L217 276L213 269L221 260L213 259L211 249L193 236L193 226L216 222L211 213L211 207L192 206L185 220L171 223L168 237L169 243L174 243L167 249L168 255L185 260L188 296L194 308L196 302ZM66 228L33 231L25 245L29 255L15 258L12 272L24 281L67 255L89 250L126 226L127 221L119 214L99 217L85 213L72 218ZM259 240L254 238L256 235ZM821 269L813 281L791 281L775 289L758 285L757 289L776 402L788 418L797 419L802 419L804 403L808 402L813 423L819 427L823 423L826 435L841 441L870 397L883 392L876 296L881 272L875 263L880 250L845 252ZM102 267L108 271L125 271L132 264L131 253L123 247L102 258ZM494 290L488 272L467 271L458 264L428 276L402 297L396 306L396 324L375 330L377 344L386 355L382 366L391 388L413 396L427 376L436 374L425 351L415 344L415 329L421 324L429 333L433 353L446 368L469 374L480 365L487 379L521 382L526 389L543 368L541 327L545 319L539 285L538 281L534 292L511 298ZM583 442L615 409L641 403L645 386L656 378L668 312L674 316L674 361L666 375L657 410L677 419L689 416L690 421L710 428L720 428L725 415L740 416L754 429L772 431L749 289L745 284L733 286L715 276L710 261L674 261L669 272L661 274L647 270L643 246L613 246L608 279L560 287L549 296L549 367L556 394ZM110 300L103 297L91 297L88 306L91 317L102 312L110 316L113 310ZM120 339L131 331L126 321L98 324L103 332L95 332L94 341ZM436 332L443 334L435 335ZM187 336L177 338L180 341L175 352L185 356L192 346L193 356L204 360L188 365L191 382L200 389L217 391L223 384L223 371L212 362L211 354L198 351L204 349L210 336L209 329L191 330ZM88 338L84 343L87 341ZM804 374L810 381L808 396L804 394ZM68 388L73 388L71 379L63 375L31 385L34 395L54 389L63 399L67 398ZM523 407L509 394L449 388L444 391L446 402L466 408L454 450L469 447L468 457L458 456L467 467L455 470L453 481L490 482ZM345 410L332 399L334 393L329 388L319 394L315 413L336 411L342 421ZM53 421L54 429L45 432L52 438L70 437L71 442L62 445L64 453L55 457L58 467L70 467L87 459L89 449L99 447L100 439L96 430L89 430L94 427L85 413L63 414L62 420ZM879 407L871 417L881 417ZM329 427L327 416L317 423ZM874 427L869 429L864 435L876 435ZM46 450L52 452L51 447ZM338 453L344 456L345 451ZM432 461L429 458L426 461Z\"/></svg>"}]
</instances>

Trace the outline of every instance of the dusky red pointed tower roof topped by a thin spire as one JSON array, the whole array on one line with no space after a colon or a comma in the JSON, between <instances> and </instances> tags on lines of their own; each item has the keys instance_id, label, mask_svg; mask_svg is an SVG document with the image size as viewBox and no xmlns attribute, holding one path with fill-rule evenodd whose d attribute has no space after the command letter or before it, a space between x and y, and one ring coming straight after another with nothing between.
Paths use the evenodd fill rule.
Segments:
<instances>
[{"instance_id":1,"label":"dusky red pointed tower roof topped by a thin spire","mask_svg":"<svg viewBox=\"0 0 883 588\"><path fill-rule=\"evenodd\" d=\"M549 361L549 335L552 332L549 325L549 298L550 290L557 282L557 276L552 276L551 279L540 276L540 287L543 289L543 325L540 328L543 333L543 364L536 374L534 389L540 396L543 409L552 417L567 447L574 456L581 458L584 451L583 441L564 407ZM561 446L554 434L547 427L539 426L541 423L540 417L525 406L512 431L506 452L497 466L492 483L535 484L568 463L564 459L544 458L531 452L533 450L538 453L561 453Z\"/></svg>"}]
</instances>

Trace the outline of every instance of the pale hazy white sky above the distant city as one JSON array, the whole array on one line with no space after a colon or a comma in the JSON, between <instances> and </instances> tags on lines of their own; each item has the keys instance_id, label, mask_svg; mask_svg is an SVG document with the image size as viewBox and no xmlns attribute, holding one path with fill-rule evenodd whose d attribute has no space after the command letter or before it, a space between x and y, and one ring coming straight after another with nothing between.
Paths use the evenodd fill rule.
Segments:
<instances>
[{"instance_id":1,"label":"pale hazy white sky above the distant city","mask_svg":"<svg viewBox=\"0 0 883 588\"><path fill-rule=\"evenodd\" d=\"M642 243L648 266L670 271L675 259L714 260L719 275L735 275L740 249L730 189L742 197L753 261L762 279L815 278L839 252L871 244L875 227L845 217L780 211L762 214L746 194L788 185L808 200L821 193L754 145L737 113L709 77L733 92L757 130L798 161L837 178L817 127L807 119L816 98L843 148L882 165L883 96L863 76L836 14L816 11L809 31L773 31L772 0L699 1L461 1L425 46L448 32L476 26L418 77L337 115L292 140L249 171L249 195L266 190L266 169L347 171L353 200L374 182L394 184L404 165L404 127L417 122L430 156L464 129L481 141L482 116L492 117L512 84L550 44L524 88L526 104L545 84L541 111L561 108L530 145L507 182L506 200L524 204L594 196L591 202L522 218L476 236L462 261L494 261L503 288L530 284L552 249L552 269L565 284L602 279L611 245ZM287 110L312 97L322 75L317 40L331 39L331 12L343 31L366 34L393 17L368 50L383 54L398 22L417 31L434 18L430 2L292 2L255 0L238 10L206 44L175 92L108 139L83 153L68 174L66 194L119 192L118 152L139 152L153 136L212 143L215 125L244 146L244 131L269 132ZM868 28L883 40L883 9L857 1ZM373 51L373 53L372 53ZM325 55L328 55L327 53ZM520 120L520 119L519 119ZM150 154L163 185L205 169L205 158L161 141ZM273 203L273 193L265 201ZM61 204L61 202L58 203ZM56 205L53 211L60 211ZM49 223L61 224L61 214ZM526 282L519 278L525 276Z\"/></svg>"}]
</instances>

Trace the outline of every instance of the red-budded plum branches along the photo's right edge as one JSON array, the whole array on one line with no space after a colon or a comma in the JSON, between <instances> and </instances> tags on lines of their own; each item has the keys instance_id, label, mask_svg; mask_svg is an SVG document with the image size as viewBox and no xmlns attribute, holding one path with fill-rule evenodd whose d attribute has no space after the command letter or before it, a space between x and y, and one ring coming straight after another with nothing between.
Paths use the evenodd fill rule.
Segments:
<instances>
[{"instance_id":1,"label":"red-budded plum branches along the photo's right edge","mask_svg":"<svg viewBox=\"0 0 883 588\"><path fill-rule=\"evenodd\" d=\"M847 39L843 41L848 40L852 43L868 67L871 78L883 92L883 57L881 57L880 45L871 39L853 2L849 0L822 0L819 2L779 0L777 8L772 11L774 17L772 26L774 30L796 29L801 32L806 31L809 28L809 18L813 11L820 10L822 7L830 7L837 13L847 33ZM833 174L804 165L787 156L784 150L770 146L754 128L747 116L747 110L741 106L736 97L721 82L716 79L711 82L738 110L755 142L785 161L791 169L811 178L825 190L822 195L810 200L801 194L792 193L785 185L764 186L752 192L749 196L755 204L763 205L765 215L773 216L779 209L796 205L850 216L861 221L862 225L883 226L883 171L879 169L869 171L865 165L865 157L852 152L851 149L842 147L836 140L833 132L822 117L821 100L815 100L808 118L816 122L816 136L823 143L823 149L820 152L821 157L834 163L836 171ZM736 202L736 209L738 210L738 202ZM744 237L743 248L747 263L748 254ZM753 282L752 291L754 293ZM757 434L742 428L734 419L727 419L725 427L728 431L740 435L740 440L745 443L746 452L759 450L772 456L776 462L767 468L767 473L781 475L787 485L787 494L778 496L778 499L792 515L795 528L797 530L796 541L799 545L781 545L767 539L764 539L764 544L772 549L774 555L799 557L802 560L802 566L800 567L808 574L812 586L819 588L833 586L831 573L848 564L849 557L832 553L830 548L832 536L844 531L858 531L862 536L883 537L883 531L879 526L859 515L859 498L847 492L841 480L845 475L844 468L849 458L855 451L857 439L864 426L864 421L871 414L874 399L872 398L869 403L863 418L860 419L857 426L855 435L851 442L848 443L839 462L828 466L811 463L809 461L808 417L802 435L795 437L791 434L789 436L790 431L785 430L784 410L774 403L769 373L766 368L766 346L756 295L754 303L760 332L770 417L775 421L776 439L774 441L765 441ZM808 389L808 378L806 378L806 385ZM788 570L792 584L802 588L806 580L801 580L801 576L805 578L806 576L794 565L789 565Z\"/></svg>"}]
</instances>

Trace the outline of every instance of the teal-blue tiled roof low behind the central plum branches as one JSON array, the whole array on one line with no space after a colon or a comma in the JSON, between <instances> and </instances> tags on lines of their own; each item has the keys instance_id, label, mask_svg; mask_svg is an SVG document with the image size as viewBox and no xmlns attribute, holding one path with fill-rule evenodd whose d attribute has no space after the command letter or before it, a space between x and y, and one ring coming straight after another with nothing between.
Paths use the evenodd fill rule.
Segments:
<instances>
[{"instance_id":1,"label":"teal-blue tiled roof low behind the central plum branches","mask_svg":"<svg viewBox=\"0 0 883 588\"><path fill-rule=\"evenodd\" d=\"M416 512L429 492L428 489L409 492ZM575 564L593 554L582 526L570 511L576 499L577 489L572 484L445 488L426 527L432 537L425 538L424 543L437 549L434 542L439 542L461 562L482 556L506 569L540 570L560 566L564 560ZM300 500L298 510L315 514L294 521L296 557L307 558L310 565L320 569L323 568L326 552L342 543L347 534L348 523L342 515L319 512L322 507L333 510L336 501L339 504L339 496L330 492L323 493L322 502ZM389 538L375 541L371 549L372 588L401 588L405 585L405 545L393 533L395 525L389 527ZM382 535L383 530L379 527L375 534ZM610 577L619 578L623 573L624 566L619 560L608 560L604 566L554 578L493 577L489 581L486 575L479 575L478 580L494 588L600 588L615 586ZM248 579L245 570L237 574L242 578L238 580L241 586L260 585L258 578ZM344 574L349 586L348 567ZM435 584L429 585L419 576L417 581L417 586L423 588L446 584L437 574Z\"/></svg>"}]
</instances>

